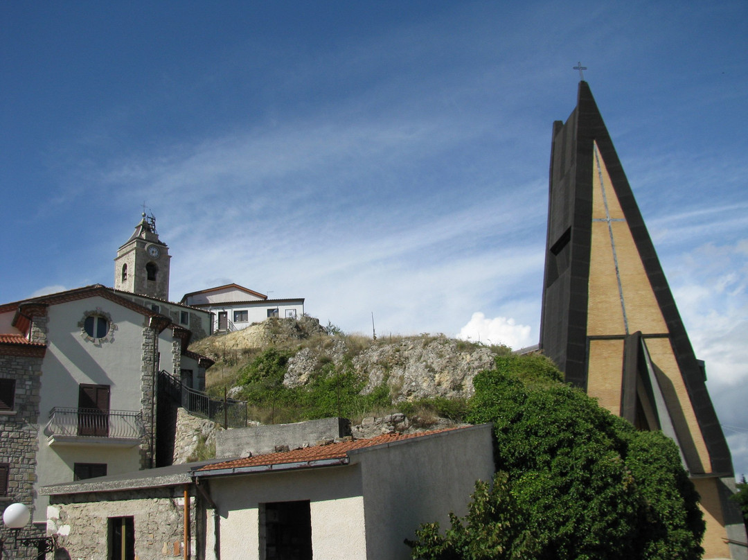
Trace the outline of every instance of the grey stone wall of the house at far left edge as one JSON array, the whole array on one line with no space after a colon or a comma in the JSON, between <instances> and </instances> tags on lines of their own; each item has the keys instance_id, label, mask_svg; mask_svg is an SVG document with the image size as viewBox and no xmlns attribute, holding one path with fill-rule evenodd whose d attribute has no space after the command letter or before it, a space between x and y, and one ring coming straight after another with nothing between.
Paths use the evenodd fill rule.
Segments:
<instances>
[{"instance_id":1,"label":"grey stone wall of the house at far left edge","mask_svg":"<svg viewBox=\"0 0 748 560\"><path fill-rule=\"evenodd\" d=\"M14 410L0 413L0 463L10 465L7 496L0 497L0 515L13 502L34 503L42 360L41 357L0 355L0 377L16 380ZM12 539L10 531L1 525L0 538ZM13 556L16 553L19 551L5 551L10 559L16 558Z\"/></svg>"}]
</instances>

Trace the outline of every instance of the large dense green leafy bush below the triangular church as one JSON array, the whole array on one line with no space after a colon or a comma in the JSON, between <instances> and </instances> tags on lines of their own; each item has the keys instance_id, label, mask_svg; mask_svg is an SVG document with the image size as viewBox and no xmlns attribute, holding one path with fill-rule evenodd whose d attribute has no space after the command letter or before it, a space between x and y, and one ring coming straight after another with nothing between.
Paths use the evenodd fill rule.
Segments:
<instances>
[{"instance_id":1,"label":"large dense green leafy bush below the triangular church","mask_svg":"<svg viewBox=\"0 0 748 560\"><path fill-rule=\"evenodd\" d=\"M494 423L497 469L508 473L512 516L522 523L514 535L532 535L507 550L535 559L700 558L704 523L675 444L637 432L559 380L542 356L497 357L473 380L468 417Z\"/></svg>"}]
</instances>

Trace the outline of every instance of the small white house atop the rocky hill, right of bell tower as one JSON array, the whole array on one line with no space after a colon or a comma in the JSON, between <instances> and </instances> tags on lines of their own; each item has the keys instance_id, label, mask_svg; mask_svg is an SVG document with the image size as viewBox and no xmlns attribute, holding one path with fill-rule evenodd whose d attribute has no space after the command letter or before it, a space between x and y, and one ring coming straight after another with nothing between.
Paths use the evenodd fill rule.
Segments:
<instances>
[{"instance_id":1,"label":"small white house atop the rocky hill, right of bell tower","mask_svg":"<svg viewBox=\"0 0 748 560\"><path fill-rule=\"evenodd\" d=\"M225 284L186 293L183 305L210 311L212 332L246 329L268 317L296 319L304 314L304 298L268 299L264 293L239 284Z\"/></svg>"}]
</instances>

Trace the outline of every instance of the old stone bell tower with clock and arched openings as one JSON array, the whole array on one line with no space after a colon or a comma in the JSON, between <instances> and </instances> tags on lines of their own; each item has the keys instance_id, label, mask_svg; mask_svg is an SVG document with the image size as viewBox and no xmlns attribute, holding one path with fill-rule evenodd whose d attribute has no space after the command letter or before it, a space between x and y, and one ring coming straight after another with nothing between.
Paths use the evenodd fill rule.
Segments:
<instances>
[{"instance_id":1,"label":"old stone bell tower with clock and arched openings","mask_svg":"<svg viewBox=\"0 0 748 560\"><path fill-rule=\"evenodd\" d=\"M169 248L159 240L156 218L143 213L129 240L117 249L114 289L169 299Z\"/></svg>"}]
</instances>

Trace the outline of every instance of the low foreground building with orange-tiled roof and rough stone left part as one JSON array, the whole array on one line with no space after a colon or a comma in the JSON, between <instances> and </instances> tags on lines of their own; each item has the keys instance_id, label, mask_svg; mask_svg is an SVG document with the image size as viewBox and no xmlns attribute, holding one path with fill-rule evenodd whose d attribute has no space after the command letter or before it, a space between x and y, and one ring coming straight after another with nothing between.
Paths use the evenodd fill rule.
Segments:
<instances>
[{"instance_id":1,"label":"low foreground building with orange-tiled roof and rough stone left part","mask_svg":"<svg viewBox=\"0 0 748 560\"><path fill-rule=\"evenodd\" d=\"M448 526L450 511L465 515L475 481L493 474L491 425L482 424L171 466L43 492L50 497L49 533L70 558L120 547L149 560L162 551L183 554L186 546L192 558L205 560L405 560L405 538L414 538L421 523Z\"/></svg>"}]
</instances>

